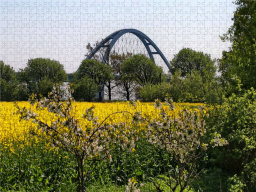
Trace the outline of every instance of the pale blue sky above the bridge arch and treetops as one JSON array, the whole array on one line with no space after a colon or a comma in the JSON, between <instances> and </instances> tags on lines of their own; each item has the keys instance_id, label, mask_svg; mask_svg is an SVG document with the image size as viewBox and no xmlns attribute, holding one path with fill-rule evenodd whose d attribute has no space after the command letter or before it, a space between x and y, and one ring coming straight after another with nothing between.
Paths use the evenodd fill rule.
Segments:
<instances>
[{"instance_id":1,"label":"pale blue sky above the bridge arch and treetops","mask_svg":"<svg viewBox=\"0 0 256 192\"><path fill-rule=\"evenodd\" d=\"M110 33L135 28L167 60L182 47L220 58L229 42L232 0L0 0L0 60L18 71L27 60L58 60L74 72L86 45Z\"/></svg>"}]
</instances>

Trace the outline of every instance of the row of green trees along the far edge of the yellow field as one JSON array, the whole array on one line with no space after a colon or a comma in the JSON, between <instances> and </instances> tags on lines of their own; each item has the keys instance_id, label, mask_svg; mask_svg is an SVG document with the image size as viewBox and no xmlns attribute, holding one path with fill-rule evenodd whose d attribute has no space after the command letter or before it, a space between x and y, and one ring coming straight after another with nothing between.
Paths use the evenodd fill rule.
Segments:
<instances>
[{"instance_id":1,"label":"row of green trees along the far edge of the yellow field","mask_svg":"<svg viewBox=\"0 0 256 192\"><path fill-rule=\"evenodd\" d=\"M190 95L194 99L189 96L183 98L185 101L198 101L203 100L205 86L215 80L214 61L209 55L190 48L183 48L174 56L170 61L172 67L169 74L165 74L152 59L142 54L113 53L109 55L107 62L99 60L83 59L78 70L71 74L73 97L76 100L101 101L104 93L111 100L115 88L120 99L130 100L135 96L145 101L153 101L157 96L164 98L168 93L175 101L180 101L184 95L189 94L188 86L192 88L201 83L199 86L203 87L198 90L198 95ZM6 101L27 100L32 93L47 96L54 84L61 86L68 80L63 65L49 58L29 59L27 66L18 72L1 61L0 71L1 100ZM186 87L181 90L180 86L185 84ZM158 87L162 87L160 89L164 91L159 92ZM191 93L192 89L189 90ZM186 92L183 95L176 93L183 90Z\"/></svg>"}]
</instances>

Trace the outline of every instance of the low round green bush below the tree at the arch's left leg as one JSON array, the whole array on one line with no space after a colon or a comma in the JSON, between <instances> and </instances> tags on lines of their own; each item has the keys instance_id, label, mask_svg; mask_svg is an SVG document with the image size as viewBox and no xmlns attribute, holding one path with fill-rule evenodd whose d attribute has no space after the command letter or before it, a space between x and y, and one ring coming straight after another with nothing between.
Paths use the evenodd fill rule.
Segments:
<instances>
[{"instance_id":1,"label":"low round green bush below the tree at the arch's left leg","mask_svg":"<svg viewBox=\"0 0 256 192\"><path fill-rule=\"evenodd\" d=\"M95 98L95 93L98 90L97 85L92 79L86 76L80 78L74 78L72 81L72 88L74 90L72 96L78 101L92 101Z\"/></svg>"}]
</instances>

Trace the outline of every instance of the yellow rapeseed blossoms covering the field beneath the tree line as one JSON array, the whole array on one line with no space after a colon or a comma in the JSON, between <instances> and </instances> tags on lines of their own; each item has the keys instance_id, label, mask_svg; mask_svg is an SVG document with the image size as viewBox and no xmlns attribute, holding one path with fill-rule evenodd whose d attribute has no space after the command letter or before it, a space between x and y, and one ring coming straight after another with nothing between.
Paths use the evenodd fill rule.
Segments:
<instances>
[{"instance_id":1,"label":"yellow rapeseed blossoms covering the field beneath the tree line","mask_svg":"<svg viewBox=\"0 0 256 192\"><path fill-rule=\"evenodd\" d=\"M84 119L82 114L85 112L86 108L95 106L93 109L94 116L97 116L97 121L102 122L109 114L115 112L110 115L105 123L113 124L125 122L126 126L129 126L131 130L134 130L139 133L146 126L141 122L138 124L132 124L131 114L134 114L135 111L141 112L143 116L147 116L147 118L155 119L159 118L160 111L156 109L153 105L153 102L136 102L135 110L130 107L129 102L109 102L109 103L91 103L91 102L75 102L73 109L75 112L75 117L78 119L78 123L81 124L81 128L85 131L87 129L92 128L92 122ZM17 105L20 107L30 108L30 104L28 101L19 101ZM201 103L174 103L174 111L181 110L182 108L187 108L189 110L197 110L196 107L202 105ZM162 103L163 109L168 111L168 106ZM13 111L16 111L13 102L0 102L0 143L1 150L9 150L12 153L16 153L17 151L22 151L24 146L29 146L31 142L33 144L39 143L42 137L45 137L45 133L41 133L40 129L37 129L37 124L32 121L21 120L17 114L13 114ZM35 107L33 107L35 109ZM120 112L125 111L125 112ZM46 121L48 124L57 119L52 113L49 113L47 109L42 111L34 111L37 112L42 121ZM118 113L116 113L118 112ZM167 113L169 113L167 112ZM36 131L41 136L31 136L30 130ZM116 130L116 135L118 135L119 130ZM46 146L48 149L52 148L50 144ZM135 151L132 148L132 151Z\"/></svg>"}]
</instances>

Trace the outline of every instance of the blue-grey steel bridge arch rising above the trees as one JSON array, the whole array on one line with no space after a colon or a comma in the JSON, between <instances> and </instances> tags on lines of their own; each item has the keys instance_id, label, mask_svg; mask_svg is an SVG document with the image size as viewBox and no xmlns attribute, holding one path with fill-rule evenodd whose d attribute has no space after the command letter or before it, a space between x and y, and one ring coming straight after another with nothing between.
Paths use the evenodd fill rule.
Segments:
<instances>
[{"instance_id":1,"label":"blue-grey steel bridge arch rising above the trees","mask_svg":"<svg viewBox=\"0 0 256 192\"><path fill-rule=\"evenodd\" d=\"M117 30L113 33L111 33L110 35L108 35L106 38L104 38L89 54L85 59L91 59L94 54L96 54L96 52L100 49L100 48L107 48L105 49L104 53L103 53L103 58L102 58L102 62L105 62L106 58L109 56L108 54L110 53L114 43L119 39L119 37L121 37L123 34L125 33L132 33L134 35L136 35L140 41L143 43L143 45L146 48L146 51L149 55L149 57L154 60L153 55L154 54L158 54L162 60L164 61L164 63L166 64L166 66L168 67L168 69L170 69L170 65L169 62L167 61L167 59L165 58L165 56L162 54L162 52L160 51L160 49L155 45L155 43L144 33L142 33L141 31L137 30L137 29L133 29L133 28L126 28L126 29L121 29L121 30ZM154 48L151 49L150 46L152 46Z\"/></svg>"}]
</instances>

